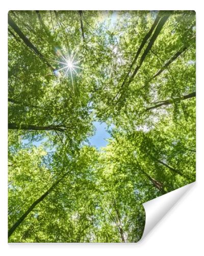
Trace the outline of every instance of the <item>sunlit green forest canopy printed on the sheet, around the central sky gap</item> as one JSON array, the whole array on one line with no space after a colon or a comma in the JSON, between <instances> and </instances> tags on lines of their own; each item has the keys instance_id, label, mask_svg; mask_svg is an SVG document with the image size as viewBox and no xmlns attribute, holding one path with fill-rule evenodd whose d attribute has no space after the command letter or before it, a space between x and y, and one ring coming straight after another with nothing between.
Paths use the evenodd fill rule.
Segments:
<instances>
[{"instance_id":1,"label":"sunlit green forest canopy printed on the sheet, around the central sky gap","mask_svg":"<svg viewBox=\"0 0 204 256\"><path fill-rule=\"evenodd\" d=\"M137 242L195 180L193 11L10 11L9 242ZM94 122L106 147L90 144Z\"/></svg>"}]
</instances>

